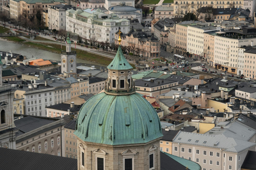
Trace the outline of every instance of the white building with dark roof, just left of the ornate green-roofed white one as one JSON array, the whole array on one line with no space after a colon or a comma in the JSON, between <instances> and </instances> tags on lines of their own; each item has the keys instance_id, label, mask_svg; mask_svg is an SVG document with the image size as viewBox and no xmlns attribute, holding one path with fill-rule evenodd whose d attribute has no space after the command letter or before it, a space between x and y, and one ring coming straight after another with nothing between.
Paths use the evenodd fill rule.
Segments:
<instances>
[{"instance_id":1,"label":"white building with dark roof, just left of the ornate green-roofed white one","mask_svg":"<svg viewBox=\"0 0 256 170\"><path fill-rule=\"evenodd\" d=\"M65 30L66 29L66 12L65 11L70 10L71 8L75 9L75 7L71 5L65 5L65 4L52 5L48 7L49 29Z\"/></svg>"}]
</instances>

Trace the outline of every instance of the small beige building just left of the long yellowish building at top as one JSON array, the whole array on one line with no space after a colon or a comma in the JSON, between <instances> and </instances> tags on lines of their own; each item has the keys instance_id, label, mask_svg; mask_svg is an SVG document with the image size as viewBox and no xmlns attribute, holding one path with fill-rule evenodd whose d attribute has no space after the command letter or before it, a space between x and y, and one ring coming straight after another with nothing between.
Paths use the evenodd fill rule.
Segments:
<instances>
[{"instance_id":1,"label":"small beige building just left of the long yellowish building at top","mask_svg":"<svg viewBox=\"0 0 256 170\"><path fill-rule=\"evenodd\" d=\"M163 3L155 8L155 19L174 18L173 3Z\"/></svg>"}]
</instances>

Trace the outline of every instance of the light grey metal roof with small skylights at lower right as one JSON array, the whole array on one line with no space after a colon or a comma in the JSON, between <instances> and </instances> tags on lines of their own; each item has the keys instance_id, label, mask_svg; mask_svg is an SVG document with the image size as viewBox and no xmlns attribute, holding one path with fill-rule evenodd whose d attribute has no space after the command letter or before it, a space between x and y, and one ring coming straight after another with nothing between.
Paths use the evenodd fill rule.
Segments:
<instances>
[{"instance_id":1,"label":"light grey metal roof with small skylights at lower right","mask_svg":"<svg viewBox=\"0 0 256 170\"><path fill-rule=\"evenodd\" d=\"M190 139L190 141L189 141ZM196 142L197 141L197 142ZM234 138L227 138L223 134L206 135L199 133L179 132L173 139L173 143L183 143L187 145L195 145L209 148L223 149L228 152L241 152L245 149L255 147L256 143L247 142Z\"/></svg>"}]
</instances>

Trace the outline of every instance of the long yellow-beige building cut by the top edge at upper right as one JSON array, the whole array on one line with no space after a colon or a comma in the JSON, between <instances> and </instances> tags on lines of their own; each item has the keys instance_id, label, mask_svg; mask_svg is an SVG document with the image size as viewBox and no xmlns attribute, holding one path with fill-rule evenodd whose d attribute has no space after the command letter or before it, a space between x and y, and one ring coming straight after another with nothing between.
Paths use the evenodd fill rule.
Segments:
<instances>
[{"instance_id":1,"label":"long yellow-beige building cut by the top edge at upper right","mask_svg":"<svg viewBox=\"0 0 256 170\"><path fill-rule=\"evenodd\" d=\"M213 8L239 8L243 7L244 1L174 1L174 15L176 17L183 17L188 12L198 15L197 10L201 7L210 6Z\"/></svg>"}]
</instances>

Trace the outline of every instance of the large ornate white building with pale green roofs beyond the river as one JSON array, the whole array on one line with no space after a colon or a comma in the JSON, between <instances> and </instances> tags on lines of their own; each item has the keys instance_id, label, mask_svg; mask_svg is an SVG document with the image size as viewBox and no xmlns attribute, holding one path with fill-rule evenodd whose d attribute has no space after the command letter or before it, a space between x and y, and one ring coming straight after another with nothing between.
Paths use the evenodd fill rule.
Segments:
<instances>
[{"instance_id":1,"label":"large ornate white building with pale green roofs beyond the river","mask_svg":"<svg viewBox=\"0 0 256 170\"><path fill-rule=\"evenodd\" d=\"M115 13L105 14L99 8L66 11L66 30L76 33L83 39L115 43L115 32L119 28L123 33L129 32L130 21L119 19Z\"/></svg>"}]
</instances>

